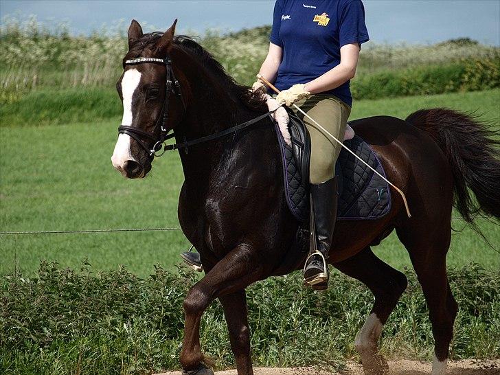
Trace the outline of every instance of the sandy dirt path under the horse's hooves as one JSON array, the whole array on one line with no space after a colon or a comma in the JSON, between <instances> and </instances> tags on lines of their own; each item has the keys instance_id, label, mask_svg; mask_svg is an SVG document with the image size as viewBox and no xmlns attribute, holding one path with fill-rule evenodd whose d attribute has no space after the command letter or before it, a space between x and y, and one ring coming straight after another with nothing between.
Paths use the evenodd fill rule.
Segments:
<instances>
[{"instance_id":1,"label":"sandy dirt path under the horse's hooves","mask_svg":"<svg viewBox=\"0 0 500 375\"><path fill-rule=\"evenodd\" d=\"M431 373L431 363L420 361L389 361L390 375L424 375ZM254 369L255 375L363 375L363 367L359 363L349 362L348 369L341 373L331 373L316 370L312 367L269 368ZM449 375L500 374L500 360L451 361L448 363ZM181 372L166 372L157 375L181 375ZM216 375L237 375L236 370L216 372Z\"/></svg>"}]
</instances>

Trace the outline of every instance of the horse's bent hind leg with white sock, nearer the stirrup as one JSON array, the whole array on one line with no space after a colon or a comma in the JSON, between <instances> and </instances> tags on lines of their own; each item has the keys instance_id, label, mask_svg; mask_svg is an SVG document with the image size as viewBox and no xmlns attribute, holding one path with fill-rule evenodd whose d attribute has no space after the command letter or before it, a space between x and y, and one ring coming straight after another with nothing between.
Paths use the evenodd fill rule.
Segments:
<instances>
[{"instance_id":1,"label":"horse's bent hind leg with white sock, nearer the stirrup","mask_svg":"<svg viewBox=\"0 0 500 375\"><path fill-rule=\"evenodd\" d=\"M375 296L370 315L356 335L354 343L361 356L365 374L386 374L389 366L383 356L378 354L378 340L383 325L407 287L407 278L377 258L370 247L333 265L346 275L363 282Z\"/></svg>"}]
</instances>

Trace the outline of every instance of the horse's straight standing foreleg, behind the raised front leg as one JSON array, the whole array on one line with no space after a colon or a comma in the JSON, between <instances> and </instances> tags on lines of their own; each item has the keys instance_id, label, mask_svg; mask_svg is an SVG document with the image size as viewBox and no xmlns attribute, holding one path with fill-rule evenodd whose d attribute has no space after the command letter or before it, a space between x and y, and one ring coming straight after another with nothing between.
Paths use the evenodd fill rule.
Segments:
<instances>
[{"instance_id":1,"label":"horse's straight standing foreleg, behind the raised front leg","mask_svg":"<svg viewBox=\"0 0 500 375\"><path fill-rule=\"evenodd\" d=\"M229 329L238 374L253 375L245 291L219 297Z\"/></svg>"}]
</instances>

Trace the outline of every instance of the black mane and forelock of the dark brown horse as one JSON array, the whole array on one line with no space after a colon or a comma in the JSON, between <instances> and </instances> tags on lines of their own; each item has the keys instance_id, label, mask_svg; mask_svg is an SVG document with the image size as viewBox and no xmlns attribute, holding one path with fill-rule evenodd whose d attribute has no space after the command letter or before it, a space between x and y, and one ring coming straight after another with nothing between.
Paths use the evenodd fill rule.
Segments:
<instances>
[{"instance_id":1,"label":"black mane and forelock of the dark brown horse","mask_svg":"<svg viewBox=\"0 0 500 375\"><path fill-rule=\"evenodd\" d=\"M137 40L129 49L124 60L137 58L145 49L154 51L155 45L159 38L163 36L163 32L151 32L144 34ZM194 56L197 60L203 62L203 66L207 71L218 78L220 84L228 93L233 93L242 104L253 111L262 111L266 109L265 100L260 95L254 95L248 86L238 84L227 74L224 67L220 65L210 52L197 43L194 38L185 35L174 36L174 44L183 49L185 52Z\"/></svg>"}]
</instances>

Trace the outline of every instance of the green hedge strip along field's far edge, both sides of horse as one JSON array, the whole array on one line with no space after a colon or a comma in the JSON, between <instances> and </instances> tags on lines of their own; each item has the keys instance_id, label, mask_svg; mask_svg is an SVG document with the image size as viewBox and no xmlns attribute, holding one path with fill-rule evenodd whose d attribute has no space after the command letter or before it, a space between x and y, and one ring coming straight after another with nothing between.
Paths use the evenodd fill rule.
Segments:
<instances>
[{"instance_id":1,"label":"green hedge strip along field's far edge, both sides of horse","mask_svg":"<svg viewBox=\"0 0 500 375\"><path fill-rule=\"evenodd\" d=\"M351 83L355 100L481 91L496 87L500 87L500 57L364 73ZM25 93L4 91L0 104L1 126L93 122L122 113L113 87L41 88Z\"/></svg>"}]
</instances>

